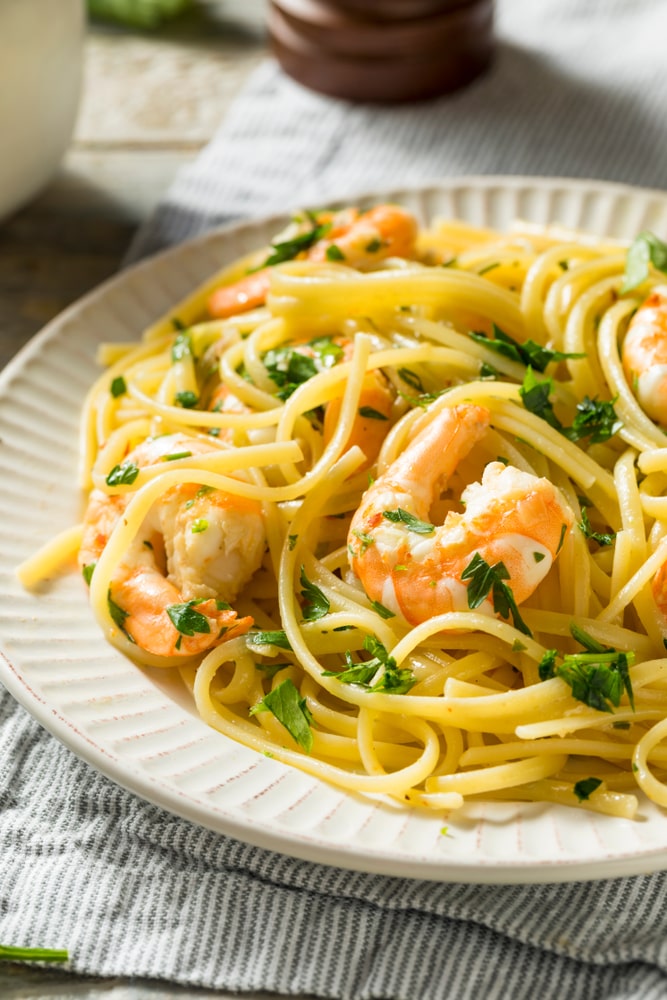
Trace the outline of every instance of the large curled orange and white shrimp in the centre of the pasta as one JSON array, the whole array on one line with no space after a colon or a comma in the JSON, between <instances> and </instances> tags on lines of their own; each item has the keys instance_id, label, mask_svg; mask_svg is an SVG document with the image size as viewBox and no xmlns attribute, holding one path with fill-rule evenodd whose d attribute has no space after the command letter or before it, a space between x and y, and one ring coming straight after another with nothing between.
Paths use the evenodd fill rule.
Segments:
<instances>
[{"instance_id":1,"label":"large curled orange and white shrimp in the centre of the pasta","mask_svg":"<svg viewBox=\"0 0 667 1000\"><path fill-rule=\"evenodd\" d=\"M468 610L463 574L476 554L490 566L504 564L520 604L549 572L574 522L548 480L491 462L481 483L463 491L462 514L450 511L439 527L428 523L441 487L482 439L489 421L482 406L441 410L366 491L352 518L353 571L371 600L412 625ZM479 610L494 614L489 599Z\"/></svg>"}]
</instances>

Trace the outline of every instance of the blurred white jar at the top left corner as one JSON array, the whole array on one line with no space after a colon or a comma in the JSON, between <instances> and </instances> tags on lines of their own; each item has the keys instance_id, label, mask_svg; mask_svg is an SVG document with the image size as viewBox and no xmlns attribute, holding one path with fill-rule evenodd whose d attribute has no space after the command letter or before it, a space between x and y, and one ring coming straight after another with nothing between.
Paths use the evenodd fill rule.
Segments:
<instances>
[{"instance_id":1,"label":"blurred white jar at the top left corner","mask_svg":"<svg viewBox=\"0 0 667 1000\"><path fill-rule=\"evenodd\" d=\"M81 88L84 0L0 0L0 219L57 168Z\"/></svg>"}]
</instances>

